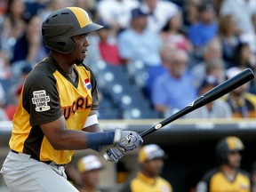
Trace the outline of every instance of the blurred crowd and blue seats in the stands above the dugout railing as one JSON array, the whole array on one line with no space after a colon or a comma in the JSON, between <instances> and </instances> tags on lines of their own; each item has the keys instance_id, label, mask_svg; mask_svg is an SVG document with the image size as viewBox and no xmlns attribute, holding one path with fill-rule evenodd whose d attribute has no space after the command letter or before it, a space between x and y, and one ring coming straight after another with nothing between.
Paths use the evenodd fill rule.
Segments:
<instances>
[{"instance_id":1,"label":"blurred crowd and blue seats in the stands above the dugout railing","mask_svg":"<svg viewBox=\"0 0 256 192\"><path fill-rule=\"evenodd\" d=\"M0 120L12 120L20 85L49 52L43 20L73 5L105 27L88 36L84 60L98 80L100 119L170 116L244 68L255 71L255 0L2 0ZM184 117L256 117L255 83Z\"/></svg>"}]
</instances>

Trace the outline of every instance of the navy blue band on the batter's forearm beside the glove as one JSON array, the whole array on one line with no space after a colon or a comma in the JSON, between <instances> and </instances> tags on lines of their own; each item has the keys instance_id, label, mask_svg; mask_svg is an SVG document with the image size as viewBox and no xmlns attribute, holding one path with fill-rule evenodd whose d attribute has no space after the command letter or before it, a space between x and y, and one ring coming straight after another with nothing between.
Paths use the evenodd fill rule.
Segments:
<instances>
[{"instance_id":1,"label":"navy blue band on the batter's forearm beside the glove","mask_svg":"<svg viewBox=\"0 0 256 192\"><path fill-rule=\"evenodd\" d=\"M115 132L87 132L87 148L99 151L100 146L113 144Z\"/></svg>"}]
</instances>

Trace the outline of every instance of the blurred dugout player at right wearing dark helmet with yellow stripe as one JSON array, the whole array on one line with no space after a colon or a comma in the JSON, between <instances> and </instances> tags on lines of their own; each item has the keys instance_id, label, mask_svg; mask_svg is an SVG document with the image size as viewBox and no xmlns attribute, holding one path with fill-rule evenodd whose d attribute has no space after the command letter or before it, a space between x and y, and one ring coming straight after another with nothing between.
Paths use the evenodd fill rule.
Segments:
<instances>
[{"instance_id":1,"label":"blurred dugout player at right wearing dark helmet with yellow stripe","mask_svg":"<svg viewBox=\"0 0 256 192\"><path fill-rule=\"evenodd\" d=\"M220 166L204 174L196 192L249 192L251 178L249 173L239 169L241 164L240 151L244 149L242 140L227 137L216 146L216 155Z\"/></svg>"}]
</instances>

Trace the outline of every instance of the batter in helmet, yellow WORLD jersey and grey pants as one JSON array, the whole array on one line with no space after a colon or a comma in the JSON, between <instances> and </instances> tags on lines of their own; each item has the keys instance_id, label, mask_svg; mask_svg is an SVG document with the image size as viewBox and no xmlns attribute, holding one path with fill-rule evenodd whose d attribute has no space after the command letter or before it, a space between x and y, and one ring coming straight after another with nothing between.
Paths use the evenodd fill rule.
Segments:
<instances>
[{"instance_id":1,"label":"batter in helmet, yellow WORLD jersey and grey pants","mask_svg":"<svg viewBox=\"0 0 256 192\"><path fill-rule=\"evenodd\" d=\"M51 52L26 78L1 170L11 191L77 191L64 172L76 149L107 151L105 158L116 162L142 144L137 132L100 129L97 83L83 63L87 36L100 28L78 7L44 20L42 34Z\"/></svg>"}]
</instances>

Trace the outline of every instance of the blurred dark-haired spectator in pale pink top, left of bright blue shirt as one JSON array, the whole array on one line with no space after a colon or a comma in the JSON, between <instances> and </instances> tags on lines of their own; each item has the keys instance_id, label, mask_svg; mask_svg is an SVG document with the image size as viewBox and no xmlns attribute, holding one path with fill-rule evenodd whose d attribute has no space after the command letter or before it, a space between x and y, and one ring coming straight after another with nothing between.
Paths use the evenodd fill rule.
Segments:
<instances>
[{"instance_id":1,"label":"blurred dark-haired spectator in pale pink top, left of bright blue shirt","mask_svg":"<svg viewBox=\"0 0 256 192\"><path fill-rule=\"evenodd\" d=\"M167 21L160 35L164 44L174 44L177 49L192 52L192 46L183 31L183 19L181 12L176 12Z\"/></svg>"}]
</instances>

